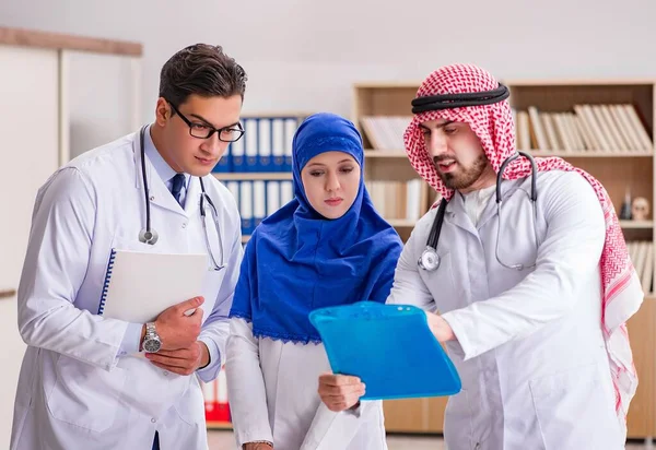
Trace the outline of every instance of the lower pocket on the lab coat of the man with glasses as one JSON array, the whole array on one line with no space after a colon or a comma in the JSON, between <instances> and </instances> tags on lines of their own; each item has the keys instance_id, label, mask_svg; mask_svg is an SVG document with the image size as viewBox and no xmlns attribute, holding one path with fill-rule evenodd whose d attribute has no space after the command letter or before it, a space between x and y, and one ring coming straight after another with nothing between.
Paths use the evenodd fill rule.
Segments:
<instances>
[{"instance_id":1,"label":"lower pocket on the lab coat of the man with glasses","mask_svg":"<svg viewBox=\"0 0 656 450\"><path fill-rule=\"evenodd\" d=\"M60 355L56 371L57 380L47 399L52 417L97 433L114 425L125 370L115 367L106 371Z\"/></svg>"}]
</instances>

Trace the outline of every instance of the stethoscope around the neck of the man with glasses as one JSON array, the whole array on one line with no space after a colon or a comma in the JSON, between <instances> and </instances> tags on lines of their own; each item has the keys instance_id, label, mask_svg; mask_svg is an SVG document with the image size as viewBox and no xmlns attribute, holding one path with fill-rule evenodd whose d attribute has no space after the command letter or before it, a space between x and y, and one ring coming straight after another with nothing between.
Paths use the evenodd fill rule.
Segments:
<instances>
[{"instance_id":1,"label":"stethoscope around the neck of the man with glasses","mask_svg":"<svg viewBox=\"0 0 656 450\"><path fill-rule=\"evenodd\" d=\"M143 194L145 198L145 228L143 228L143 229L141 229L141 232L139 232L139 240L143 244L149 244L149 245L153 246L160 238L160 235L157 234L157 232L155 229L153 229L151 227L151 221L150 221L150 198L149 198L149 190L148 190L148 177L145 175L145 144L144 144L147 128L148 128L148 126L144 126L141 129L141 132L139 135L139 146L140 146L140 151L141 151L141 179L143 180ZM221 239L221 232L219 230L219 215L216 213L216 208L214 206L212 199L210 199L210 196L208 196L208 193L204 190L204 185L202 182L202 178L198 177L198 180L200 181L200 190L201 190L200 216L201 216L202 227L204 230L206 246L208 248L208 254L210 256L210 259L211 259L212 269L215 271L219 271L219 270L225 268L225 261L224 261L224 254L223 254L223 240ZM210 209L210 213L212 215L214 226L216 227L216 236L219 237L219 248L221 251L220 260L214 258L214 251L212 250L212 246L210 244L210 237L209 237L208 226L207 226L206 208ZM218 261L220 261L220 263Z\"/></svg>"}]
</instances>

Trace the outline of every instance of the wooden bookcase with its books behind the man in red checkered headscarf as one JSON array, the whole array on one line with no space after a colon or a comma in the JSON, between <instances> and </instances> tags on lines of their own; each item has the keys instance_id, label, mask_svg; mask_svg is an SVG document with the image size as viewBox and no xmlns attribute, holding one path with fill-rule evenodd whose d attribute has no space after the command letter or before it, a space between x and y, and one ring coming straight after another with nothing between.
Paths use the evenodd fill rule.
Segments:
<instances>
[{"instance_id":1,"label":"wooden bookcase with its books behind the man in red checkered headscarf","mask_svg":"<svg viewBox=\"0 0 656 450\"><path fill-rule=\"evenodd\" d=\"M656 407L653 404L656 395L656 364L653 358L656 353L653 287L656 272L653 218L656 200L656 80L502 80L502 83L511 90L509 102L515 111L519 147L534 156L563 157L591 174L608 191L618 214L628 192L632 198L643 197L649 202L652 212L645 221L620 221L620 225L647 298L628 324L641 379L629 411L628 436L656 436ZM374 204L377 209L384 204L383 216L403 240L409 237L417 218L397 218L398 208L396 215L388 215L387 206L393 197L386 192L376 198L372 186L380 181L408 182L417 176L402 149L402 141L397 144L402 129L397 118L412 116L411 100L419 85L420 82L361 82L353 85L352 96L351 119L367 149L365 182ZM529 107L535 108L532 120L528 115ZM536 110L538 114L535 114ZM526 112L523 123L519 123L518 111ZM540 140L542 145L538 145L531 128L536 118L538 123L547 123ZM584 119L588 122L582 125ZM519 140L520 134L523 140ZM558 145L551 145L552 142ZM397 149L397 145L401 147ZM424 181L421 182L419 216L427 212L436 196ZM388 431L442 433L446 399L386 401L384 405Z\"/></svg>"}]
</instances>

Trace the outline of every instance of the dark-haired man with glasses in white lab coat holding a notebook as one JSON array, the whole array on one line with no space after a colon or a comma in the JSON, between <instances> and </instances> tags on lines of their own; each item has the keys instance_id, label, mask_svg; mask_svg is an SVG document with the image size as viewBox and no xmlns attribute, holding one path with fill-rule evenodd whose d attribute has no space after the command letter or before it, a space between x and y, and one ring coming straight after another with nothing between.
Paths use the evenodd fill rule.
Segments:
<instances>
[{"instance_id":1,"label":"dark-haired man with glasses in white lab coat holding a notebook","mask_svg":"<svg viewBox=\"0 0 656 450\"><path fill-rule=\"evenodd\" d=\"M207 448L198 378L221 369L242 259L235 200L210 173L244 133L246 80L221 47L178 51L162 69L154 122L39 190L19 287L28 347L11 449ZM208 253L202 296L151 323L97 315L113 249Z\"/></svg>"}]
</instances>

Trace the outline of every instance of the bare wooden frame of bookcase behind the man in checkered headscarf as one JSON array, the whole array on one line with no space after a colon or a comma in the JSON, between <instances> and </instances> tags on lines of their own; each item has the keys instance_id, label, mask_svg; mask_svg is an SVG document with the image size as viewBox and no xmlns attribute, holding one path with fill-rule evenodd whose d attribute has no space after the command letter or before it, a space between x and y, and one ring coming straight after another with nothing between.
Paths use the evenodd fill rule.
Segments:
<instances>
[{"instance_id":1,"label":"bare wooden frame of bookcase behind the man in checkered headscarf","mask_svg":"<svg viewBox=\"0 0 656 450\"><path fill-rule=\"evenodd\" d=\"M652 281L645 285L645 301L639 312L629 321L631 345L635 366L640 377L640 386L634 396L628 418L629 438L649 438L656 436L656 300L654 277L656 275L656 242L654 201L656 186L654 174L654 130L656 118L656 80L503 80L511 88L511 106L515 111L536 107L540 112L575 114L576 105L632 105L651 139L651 145L643 149L589 147L572 150L538 150L530 145L520 150L534 156L559 156L595 176L607 189L616 206L618 215L626 191L631 197L644 197L651 205L651 212L644 221L622 220L620 225L629 244L651 242L648 252L654 264L651 271ZM420 82L374 82L358 83L352 91L351 119L363 134L365 145L365 176L371 180L407 181L418 177L405 149L380 150L374 145L377 139L371 139L367 131L371 126L363 127L364 118L411 117L411 100L417 94ZM517 123L517 121L516 121ZM600 123L604 123L600 121ZM395 133L398 129L395 128ZM620 130L623 132L622 130ZM620 132L618 131L618 133ZM602 130L602 133L607 133ZM376 138L376 137L375 137ZM614 140L614 142L620 142ZM422 215L427 212L435 192L424 182L421 196ZM415 221L389 221L403 239L409 237ZM635 263L635 261L634 261ZM645 270L649 274L648 270ZM384 402L386 429L390 433L442 433L445 399L413 399Z\"/></svg>"}]
</instances>

